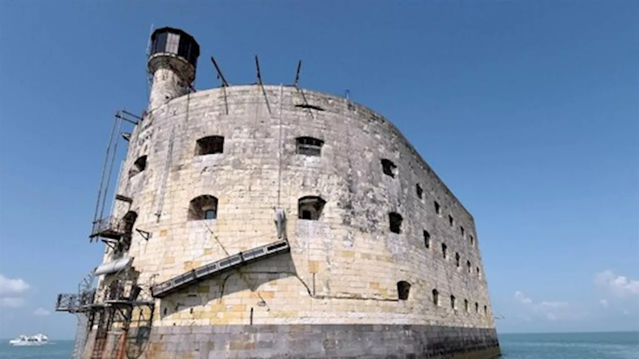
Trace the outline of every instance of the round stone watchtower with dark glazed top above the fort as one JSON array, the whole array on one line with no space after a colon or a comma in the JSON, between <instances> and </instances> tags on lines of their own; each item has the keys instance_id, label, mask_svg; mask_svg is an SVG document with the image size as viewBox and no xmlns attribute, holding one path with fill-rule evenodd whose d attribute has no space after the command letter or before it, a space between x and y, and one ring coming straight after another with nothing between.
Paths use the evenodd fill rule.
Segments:
<instances>
[{"instance_id":1,"label":"round stone watchtower with dark glazed top above the fort","mask_svg":"<svg viewBox=\"0 0 639 359\"><path fill-rule=\"evenodd\" d=\"M153 76L148 112L192 91L199 45L180 29L162 27L151 34L148 72Z\"/></svg>"}]
</instances>

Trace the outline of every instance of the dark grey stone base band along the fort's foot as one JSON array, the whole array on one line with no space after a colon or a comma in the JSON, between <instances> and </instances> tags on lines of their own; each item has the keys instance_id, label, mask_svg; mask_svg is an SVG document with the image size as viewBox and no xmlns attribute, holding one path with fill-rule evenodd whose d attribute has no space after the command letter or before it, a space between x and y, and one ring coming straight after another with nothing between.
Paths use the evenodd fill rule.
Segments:
<instances>
[{"instance_id":1,"label":"dark grey stone base band along the fort's foot","mask_svg":"<svg viewBox=\"0 0 639 359\"><path fill-rule=\"evenodd\" d=\"M141 359L491 359L500 355L494 329L427 325L165 326L141 337L132 328L127 342L128 356ZM114 351L105 348L104 358Z\"/></svg>"}]
</instances>

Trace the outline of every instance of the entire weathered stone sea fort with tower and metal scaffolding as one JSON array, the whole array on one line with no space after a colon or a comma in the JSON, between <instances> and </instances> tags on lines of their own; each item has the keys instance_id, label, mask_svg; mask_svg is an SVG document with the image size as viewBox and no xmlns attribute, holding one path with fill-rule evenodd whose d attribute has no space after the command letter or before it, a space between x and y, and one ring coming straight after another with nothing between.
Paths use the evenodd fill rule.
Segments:
<instances>
[{"instance_id":1,"label":"entire weathered stone sea fort with tower and metal scaffolding","mask_svg":"<svg viewBox=\"0 0 639 359\"><path fill-rule=\"evenodd\" d=\"M222 85L195 91L199 51L155 30L148 110L114 119L104 258L56 302L73 357L499 356L473 217L399 130L259 63L231 86L212 57Z\"/></svg>"}]
</instances>

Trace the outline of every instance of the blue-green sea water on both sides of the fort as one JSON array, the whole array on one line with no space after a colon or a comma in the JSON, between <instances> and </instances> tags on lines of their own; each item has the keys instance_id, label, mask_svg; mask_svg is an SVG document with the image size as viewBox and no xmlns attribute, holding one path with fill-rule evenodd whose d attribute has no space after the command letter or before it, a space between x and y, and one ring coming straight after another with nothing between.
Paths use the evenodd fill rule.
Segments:
<instances>
[{"instance_id":1,"label":"blue-green sea water on both sides of the fort","mask_svg":"<svg viewBox=\"0 0 639 359\"><path fill-rule=\"evenodd\" d=\"M40 347L0 343L0 359L68 359L70 340ZM503 359L639 359L639 332L500 334Z\"/></svg>"}]
</instances>

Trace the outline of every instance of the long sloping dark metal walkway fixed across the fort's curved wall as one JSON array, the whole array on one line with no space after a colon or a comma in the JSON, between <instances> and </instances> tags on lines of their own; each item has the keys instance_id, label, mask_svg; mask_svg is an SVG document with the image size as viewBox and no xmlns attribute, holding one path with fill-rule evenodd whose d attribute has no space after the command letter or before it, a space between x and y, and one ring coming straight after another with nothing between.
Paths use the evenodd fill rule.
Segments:
<instances>
[{"instance_id":1,"label":"long sloping dark metal walkway fixed across the fort's curved wall","mask_svg":"<svg viewBox=\"0 0 639 359\"><path fill-rule=\"evenodd\" d=\"M185 287L192 286L193 284L208 277L212 277L213 275L238 268L239 266L243 266L259 259L265 259L266 257L270 257L275 254L289 252L290 249L291 247L289 247L288 241L286 240L252 248L245 252L240 252L233 256L220 259L219 261L205 264L204 266L173 277L166 282L157 284L156 286L151 287L151 295L153 298L164 298L171 293L179 291Z\"/></svg>"}]
</instances>

